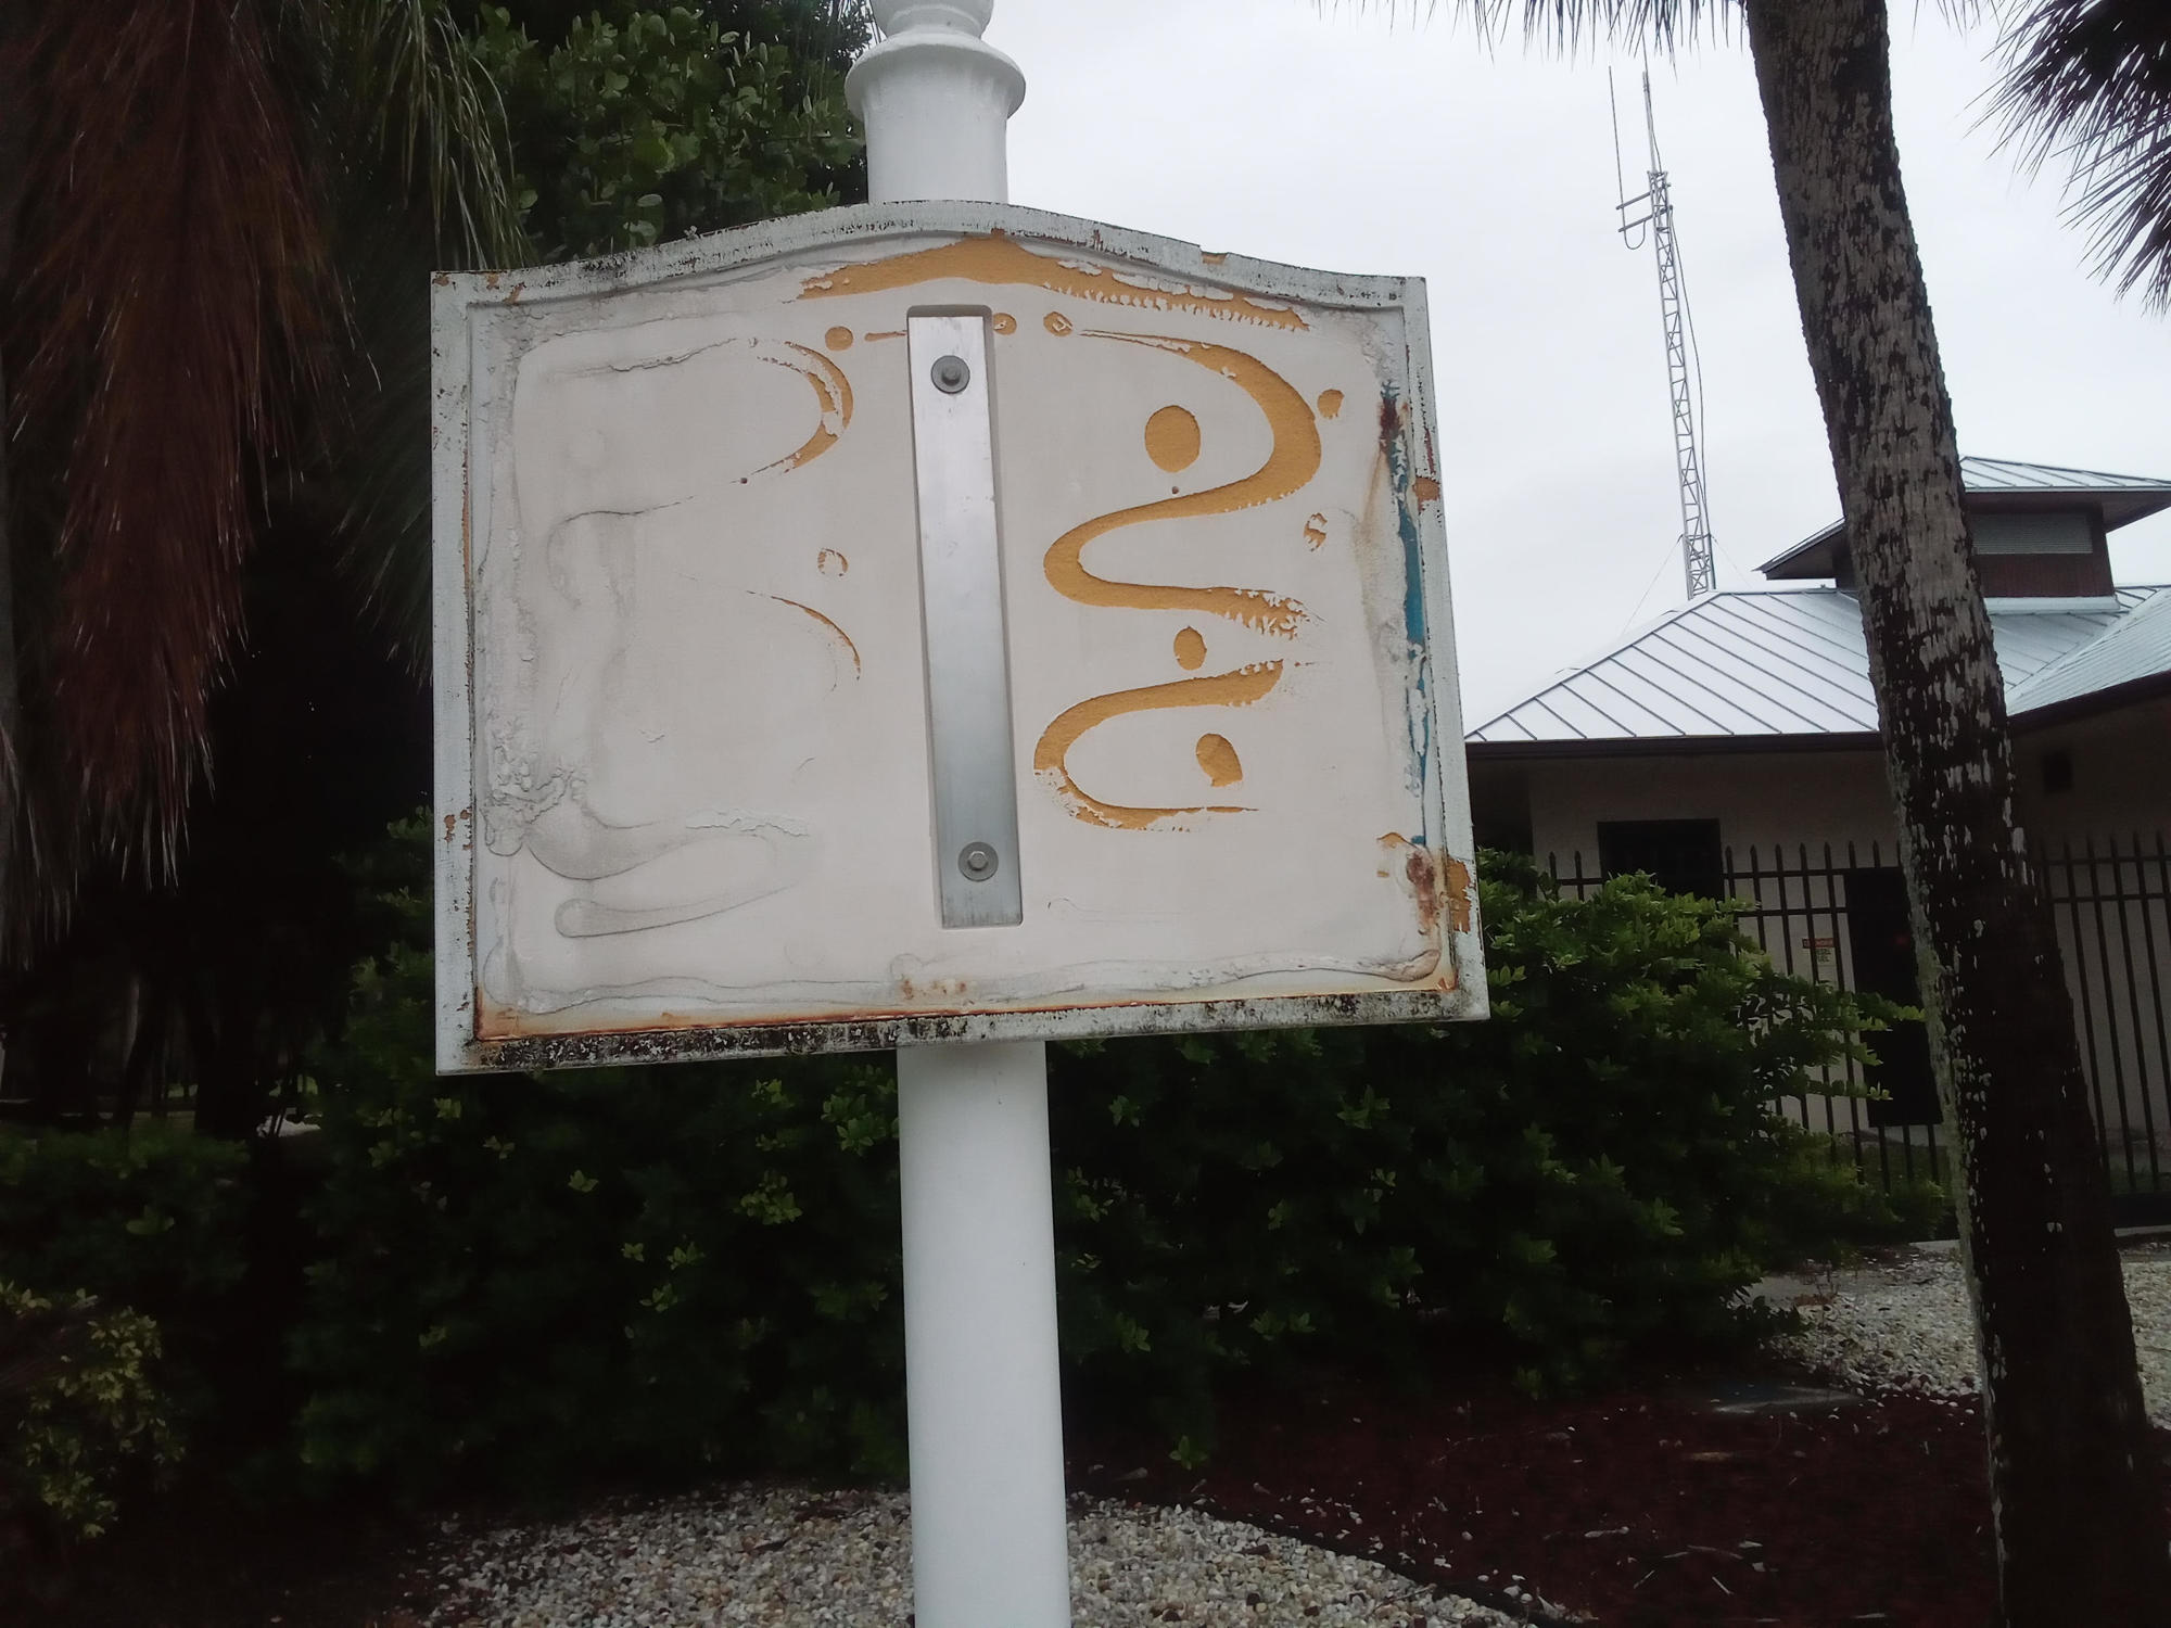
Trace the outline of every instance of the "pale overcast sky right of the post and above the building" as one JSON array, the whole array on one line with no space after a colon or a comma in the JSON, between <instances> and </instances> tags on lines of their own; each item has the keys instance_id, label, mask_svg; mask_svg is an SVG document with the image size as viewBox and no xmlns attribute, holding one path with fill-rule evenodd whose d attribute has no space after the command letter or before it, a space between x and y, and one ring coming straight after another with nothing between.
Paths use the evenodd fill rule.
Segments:
<instances>
[{"instance_id":1,"label":"pale overcast sky right of the post and above the building","mask_svg":"<svg viewBox=\"0 0 2171 1628\"><path fill-rule=\"evenodd\" d=\"M1960 449L2171 475L2171 319L2089 278L2060 176L1991 128L1993 33L1895 0L1908 202ZM1613 234L1607 63L1641 191L1633 54L1487 50L1309 0L999 0L1025 69L1018 204L1429 284L1470 725L1680 603L1680 512L1650 247ZM1748 50L1652 65L1704 373L1719 586L1839 517ZM2171 582L2171 514L2112 534Z\"/></svg>"}]
</instances>

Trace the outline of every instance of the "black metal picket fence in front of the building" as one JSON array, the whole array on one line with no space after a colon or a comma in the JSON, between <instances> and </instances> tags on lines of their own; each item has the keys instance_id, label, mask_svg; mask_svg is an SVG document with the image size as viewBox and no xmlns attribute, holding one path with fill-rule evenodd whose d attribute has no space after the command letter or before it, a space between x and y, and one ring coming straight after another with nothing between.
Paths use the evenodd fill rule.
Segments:
<instances>
[{"instance_id":1,"label":"black metal picket fence in front of the building","mask_svg":"<svg viewBox=\"0 0 2171 1628\"><path fill-rule=\"evenodd\" d=\"M1583 896L1602 877L1580 853L1546 857L1561 890ZM1852 842L1726 849L1724 890L1741 927L1780 970L1843 990L1874 988L1913 999L1887 981L1893 957L1887 929L1897 890L1897 855ZM2082 1068L2121 1222L2171 1220L2171 847L2154 838L2091 838L2060 844L2043 862L2065 981L2073 996ZM1904 940L1902 940L1904 942ZM1902 957L1910 959L1910 957ZM1867 977L1865 977L1867 975ZM1884 1031L1871 1046L1889 1061L1874 1083L1882 1101L1808 1090L1787 1101L1802 1124L1832 1137L1834 1157L1852 1157L1887 1190L1906 1181L1945 1183L1950 1148L1934 1098L1908 1072L1908 1040ZM1839 1085L1839 1070L1826 1079ZM1845 1064L1848 1088L1863 1070Z\"/></svg>"}]
</instances>

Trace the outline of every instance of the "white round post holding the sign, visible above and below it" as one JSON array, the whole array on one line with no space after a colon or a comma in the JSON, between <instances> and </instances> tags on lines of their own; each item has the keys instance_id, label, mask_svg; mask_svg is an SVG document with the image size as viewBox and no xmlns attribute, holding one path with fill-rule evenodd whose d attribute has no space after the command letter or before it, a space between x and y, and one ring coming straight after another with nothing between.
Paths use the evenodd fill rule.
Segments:
<instances>
[{"instance_id":1,"label":"white round post holding the sign, visible above and below it","mask_svg":"<svg viewBox=\"0 0 2171 1628\"><path fill-rule=\"evenodd\" d=\"M1010 200L1025 76L981 39L992 11L875 0L845 82L871 202ZM1068 1628L1046 1046L901 1048L897 1157L914 1619Z\"/></svg>"}]
</instances>

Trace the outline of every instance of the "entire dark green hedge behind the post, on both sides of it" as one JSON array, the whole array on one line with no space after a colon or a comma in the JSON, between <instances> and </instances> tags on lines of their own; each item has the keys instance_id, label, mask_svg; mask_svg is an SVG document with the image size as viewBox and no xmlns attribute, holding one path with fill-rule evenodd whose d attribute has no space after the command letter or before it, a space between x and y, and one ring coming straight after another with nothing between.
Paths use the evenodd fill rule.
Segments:
<instances>
[{"instance_id":1,"label":"entire dark green hedge behind the post, on both sides of it","mask_svg":"<svg viewBox=\"0 0 2171 1628\"><path fill-rule=\"evenodd\" d=\"M306 1461L899 1472L888 1059L439 1079L415 864L317 1070ZM1483 1025L1055 1048L1075 1411L1190 1454L1218 1374L1415 1365L1426 1324L1583 1385L1739 1333L1763 1263L1900 1224L1769 1114L1843 1055L1845 996L1639 879L1563 901L1487 860L1483 907Z\"/></svg>"}]
</instances>

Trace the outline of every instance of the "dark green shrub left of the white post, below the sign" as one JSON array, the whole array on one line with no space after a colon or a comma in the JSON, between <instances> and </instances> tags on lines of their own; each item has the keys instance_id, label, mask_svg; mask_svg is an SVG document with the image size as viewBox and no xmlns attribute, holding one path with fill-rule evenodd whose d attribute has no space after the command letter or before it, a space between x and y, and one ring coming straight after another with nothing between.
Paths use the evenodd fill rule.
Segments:
<instances>
[{"instance_id":1,"label":"dark green shrub left of the white post, below the sign","mask_svg":"<svg viewBox=\"0 0 2171 1628\"><path fill-rule=\"evenodd\" d=\"M419 870L380 866L406 942L317 1066L306 1463L410 1489L894 1472L886 1059L439 1079Z\"/></svg>"}]
</instances>

